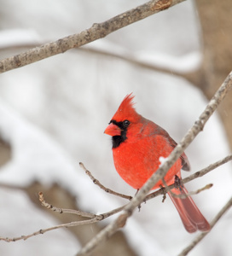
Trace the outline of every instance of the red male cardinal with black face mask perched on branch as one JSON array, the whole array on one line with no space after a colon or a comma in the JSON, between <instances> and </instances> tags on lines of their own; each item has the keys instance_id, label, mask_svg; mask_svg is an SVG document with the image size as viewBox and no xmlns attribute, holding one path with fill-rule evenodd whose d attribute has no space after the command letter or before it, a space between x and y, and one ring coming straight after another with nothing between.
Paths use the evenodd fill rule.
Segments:
<instances>
[{"instance_id":1,"label":"red male cardinal with black face mask perched on branch","mask_svg":"<svg viewBox=\"0 0 232 256\"><path fill-rule=\"evenodd\" d=\"M166 158L171 154L177 143L159 125L136 113L133 98L132 93L125 96L104 132L112 136L113 161L120 177L134 189L140 189L159 168L160 157ZM181 178L181 169L190 170L184 153L166 173L165 183L170 185L175 182L175 177ZM153 189L159 189L160 186L164 186L162 181L156 183ZM171 192L175 195L188 193L183 184L171 189ZM210 230L210 224L190 196L178 198L171 195L171 192L168 195L189 233Z\"/></svg>"}]
</instances>

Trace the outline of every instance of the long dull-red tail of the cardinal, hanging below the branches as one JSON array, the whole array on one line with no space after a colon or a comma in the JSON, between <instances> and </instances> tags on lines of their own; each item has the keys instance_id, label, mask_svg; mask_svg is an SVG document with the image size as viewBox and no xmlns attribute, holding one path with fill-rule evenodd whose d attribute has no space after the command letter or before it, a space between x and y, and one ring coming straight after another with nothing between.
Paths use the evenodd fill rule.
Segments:
<instances>
[{"instance_id":1,"label":"long dull-red tail of the cardinal, hanging below the branches","mask_svg":"<svg viewBox=\"0 0 232 256\"><path fill-rule=\"evenodd\" d=\"M181 189L171 189L171 192L175 195L185 195L188 193L188 190L182 186ZM168 192L168 195L177 208L183 225L189 233L193 233L196 230L209 231L211 229L210 224L190 196L183 199L172 196L170 192Z\"/></svg>"}]
</instances>

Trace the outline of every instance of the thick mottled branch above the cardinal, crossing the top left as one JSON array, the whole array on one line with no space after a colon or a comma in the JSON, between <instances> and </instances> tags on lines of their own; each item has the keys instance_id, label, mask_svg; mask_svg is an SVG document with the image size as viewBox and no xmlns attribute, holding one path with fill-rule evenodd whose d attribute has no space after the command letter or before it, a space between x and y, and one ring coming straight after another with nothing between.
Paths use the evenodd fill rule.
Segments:
<instances>
[{"instance_id":1,"label":"thick mottled branch above the cardinal, crossing the top left","mask_svg":"<svg viewBox=\"0 0 232 256\"><path fill-rule=\"evenodd\" d=\"M36 61L41 61L53 55L66 52L68 49L89 44L99 38L105 38L111 32L115 32L122 27L154 15L164 9L168 9L184 0L153 0L144 3L135 9L126 11L110 20L102 23L95 23L89 29L78 34L61 38L55 42L43 44L33 49L29 49L19 55L6 58L0 61L0 73L7 72L17 67L23 67Z\"/></svg>"}]
</instances>

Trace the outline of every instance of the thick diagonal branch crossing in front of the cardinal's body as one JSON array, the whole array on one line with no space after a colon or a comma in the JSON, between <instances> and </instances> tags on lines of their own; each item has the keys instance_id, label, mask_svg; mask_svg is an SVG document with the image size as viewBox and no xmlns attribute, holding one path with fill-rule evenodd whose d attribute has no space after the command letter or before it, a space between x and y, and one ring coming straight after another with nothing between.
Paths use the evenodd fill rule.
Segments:
<instances>
[{"instance_id":1,"label":"thick diagonal branch crossing in front of the cardinal's body","mask_svg":"<svg viewBox=\"0 0 232 256\"><path fill-rule=\"evenodd\" d=\"M119 228L121 227L121 222L119 220L123 219L125 224L126 219L131 216L136 207L138 207L144 198L148 194L149 190L154 187L154 184L165 177L166 172L171 168L175 161L183 154L185 148L188 147L194 138L203 131L204 126L206 125L207 120L211 117L212 113L217 109L220 102L223 101L223 98L229 92L232 87L232 72L229 73L228 77L225 79L223 84L217 90L215 95L212 97L212 100L206 106L206 109L203 113L200 114L199 119L197 119L191 129L188 130L187 134L183 137L180 143L177 144L177 147L171 152L171 154L165 159L165 162L159 169L154 172L152 177L142 186L138 193L133 197L131 202L125 207L124 212L117 219L115 219L111 224L108 224L106 228L101 230L92 240L90 240L77 254L86 255L93 251L93 249L99 245L102 241L106 241L110 236L112 236Z\"/></svg>"}]
</instances>

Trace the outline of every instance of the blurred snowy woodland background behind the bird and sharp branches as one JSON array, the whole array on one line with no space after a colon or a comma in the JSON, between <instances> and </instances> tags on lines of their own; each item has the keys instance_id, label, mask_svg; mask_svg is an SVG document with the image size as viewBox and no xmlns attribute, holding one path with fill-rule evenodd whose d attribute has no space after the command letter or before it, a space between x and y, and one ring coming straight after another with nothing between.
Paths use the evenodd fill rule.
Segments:
<instances>
[{"instance_id":1,"label":"blurred snowy woodland background behind the bird and sharp branches","mask_svg":"<svg viewBox=\"0 0 232 256\"><path fill-rule=\"evenodd\" d=\"M108 20L145 1L0 0L0 58L55 41ZM134 195L115 171L111 139L103 134L123 98L177 142L194 124L232 67L229 0L186 1L113 32L80 49L0 76L0 236L16 237L80 218L40 206L38 191L55 207L107 212L127 201L107 195L79 167L81 161L106 187ZM186 154L197 172L232 145L231 92ZM188 173L184 172L183 177ZM187 184L213 183L194 195L211 221L231 196L231 163ZM177 255L188 234L169 198L142 204L125 229L93 255ZM54 230L26 241L1 241L1 255L74 255L113 218ZM232 213L189 255L229 255Z\"/></svg>"}]
</instances>

